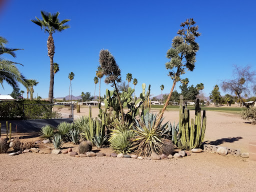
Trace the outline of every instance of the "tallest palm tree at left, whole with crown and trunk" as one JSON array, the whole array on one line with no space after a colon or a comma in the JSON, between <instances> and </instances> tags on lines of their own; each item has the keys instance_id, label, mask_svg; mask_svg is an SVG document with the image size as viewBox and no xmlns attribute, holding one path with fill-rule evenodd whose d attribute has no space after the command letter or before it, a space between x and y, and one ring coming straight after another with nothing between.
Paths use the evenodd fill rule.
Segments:
<instances>
[{"instance_id":1,"label":"tallest palm tree at left, whole with crown and trunk","mask_svg":"<svg viewBox=\"0 0 256 192\"><path fill-rule=\"evenodd\" d=\"M35 17L36 19L32 19L31 21L38 26L41 27L41 29L44 29L44 32L47 32L49 34L47 39L47 49L48 49L48 56L50 57L50 85L49 85L49 94L48 94L48 100L52 102L53 99L53 84L54 84L54 75L53 75L53 56L54 56L54 41L52 34L56 31L61 32L62 30L69 28L69 25L66 25L64 23L68 22L70 19L64 19L62 21L58 18L59 12L56 13L50 13L50 12L44 12L41 10L41 17L42 19L39 19Z\"/></svg>"}]
</instances>

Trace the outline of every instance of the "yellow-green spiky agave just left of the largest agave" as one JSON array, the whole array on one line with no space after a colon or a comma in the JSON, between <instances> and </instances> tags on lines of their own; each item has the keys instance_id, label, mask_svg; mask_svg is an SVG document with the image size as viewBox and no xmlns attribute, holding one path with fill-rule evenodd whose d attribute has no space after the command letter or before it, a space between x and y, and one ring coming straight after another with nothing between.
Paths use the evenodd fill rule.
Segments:
<instances>
[{"instance_id":1,"label":"yellow-green spiky agave just left of the largest agave","mask_svg":"<svg viewBox=\"0 0 256 192\"><path fill-rule=\"evenodd\" d=\"M134 135L132 123L118 121L115 129L111 129L108 141L115 152L127 154L132 152L133 143L131 138Z\"/></svg>"}]
</instances>

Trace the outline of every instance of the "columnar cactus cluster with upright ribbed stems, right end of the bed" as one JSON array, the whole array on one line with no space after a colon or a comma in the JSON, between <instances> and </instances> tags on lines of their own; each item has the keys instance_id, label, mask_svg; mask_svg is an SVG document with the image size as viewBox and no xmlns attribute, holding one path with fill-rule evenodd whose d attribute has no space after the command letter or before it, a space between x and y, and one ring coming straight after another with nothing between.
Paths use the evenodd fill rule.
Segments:
<instances>
[{"instance_id":1,"label":"columnar cactus cluster with upright ribbed stems, right end of the bed","mask_svg":"<svg viewBox=\"0 0 256 192\"><path fill-rule=\"evenodd\" d=\"M206 127L205 110L203 110L201 119L201 109L199 107L199 99L196 99L195 118L189 118L189 110L183 105L183 96L179 97L179 134L180 141L178 147L181 149L190 150L198 148L204 138ZM190 120L190 122L189 122Z\"/></svg>"}]
</instances>

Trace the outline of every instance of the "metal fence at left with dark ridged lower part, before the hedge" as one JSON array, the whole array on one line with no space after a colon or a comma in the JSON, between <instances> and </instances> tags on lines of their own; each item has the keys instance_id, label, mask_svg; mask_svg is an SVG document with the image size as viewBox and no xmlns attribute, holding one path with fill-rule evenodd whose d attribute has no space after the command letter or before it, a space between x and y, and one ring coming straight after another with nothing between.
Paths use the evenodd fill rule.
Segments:
<instances>
[{"instance_id":1,"label":"metal fence at left with dark ridged lower part, before the hedge","mask_svg":"<svg viewBox=\"0 0 256 192\"><path fill-rule=\"evenodd\" d=\"M12 133L39 132L45 125L56 127L63 121L73 122L73 104L22 104L19 109L21 113L6 119ZM6 133L6 120L0 120L1 134Z\"/></svg>"}]
</instances>

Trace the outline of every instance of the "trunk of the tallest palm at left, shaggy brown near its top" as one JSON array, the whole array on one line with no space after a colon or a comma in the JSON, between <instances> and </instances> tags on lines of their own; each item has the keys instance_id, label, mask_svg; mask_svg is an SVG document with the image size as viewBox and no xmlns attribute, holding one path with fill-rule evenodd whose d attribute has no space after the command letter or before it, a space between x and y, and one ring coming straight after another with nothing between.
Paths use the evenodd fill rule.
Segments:
<instances>
[{"instance_id":1,"label":"trunk of the tallest palm at left, shaggy brown near its top","mask_svg":"<svg viewBox=\"0 0 256 192\"><path fill-rule=\"evenodd\" d=\"M54 84L54 75L53 75L53 56L54 56L54 41L52 38L52 34L49 33L47 39L47 48L48 48L48 56L50 57L50 85L49 85L49 94L48 94L48 101L52 102L53 100L53 84Z\"/></svg>"}]
</instances>

